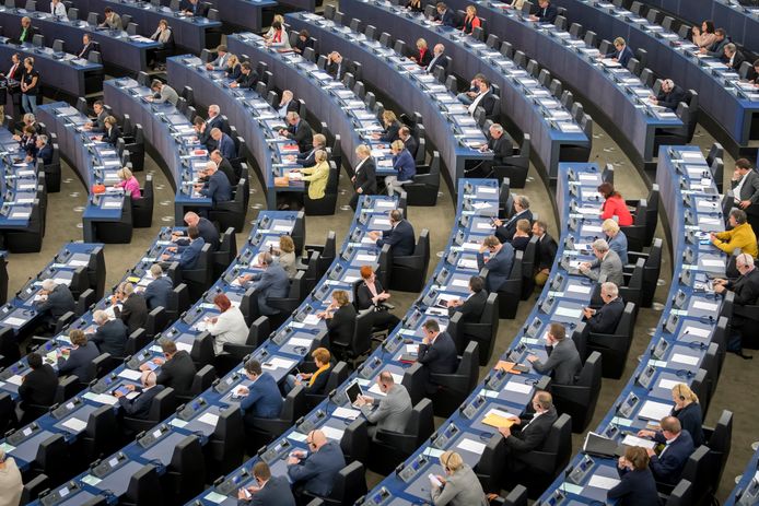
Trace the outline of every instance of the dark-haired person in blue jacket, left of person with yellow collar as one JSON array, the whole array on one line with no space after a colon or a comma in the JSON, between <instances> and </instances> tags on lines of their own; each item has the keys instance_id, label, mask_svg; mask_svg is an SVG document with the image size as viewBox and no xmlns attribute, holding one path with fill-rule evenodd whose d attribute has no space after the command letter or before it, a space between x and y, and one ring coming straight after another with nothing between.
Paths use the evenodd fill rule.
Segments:
<instances>
[{"instance_id":1,"label":"dark-haired person in blue jacket, left of person with yellow collar","mask_svg":"<svg viewBox=\"0 0 759 506\"><path fill-rule=\"evenodd\" d=\"M282 396L277 381L269 373L264 373L260 362L249 360L245 363L245 376L253 381L248 387L238 387L237 395L245 396L240 403L246 427L255 427L255 419L276 419L282 411Z\"/></svg>"}]
</instances>

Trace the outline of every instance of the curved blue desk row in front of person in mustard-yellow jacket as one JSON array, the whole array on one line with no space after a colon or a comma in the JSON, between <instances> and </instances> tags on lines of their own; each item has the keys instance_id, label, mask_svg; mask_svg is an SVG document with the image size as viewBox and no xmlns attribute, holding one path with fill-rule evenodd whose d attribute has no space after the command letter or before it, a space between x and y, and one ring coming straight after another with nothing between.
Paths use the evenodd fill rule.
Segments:
<instances>
[{"instance_id":1,"label":"curved blue desk row in front of person in mustard-yellow jacket","mask_svg":"<svg viewBox=\"0 0 759 506\"><path fill-rule=\"evenodd\" d=\"M725 255L708 240L709 232L724 228L720 196L709 165L698 148L665 146L659 150L656 183L669 220L675 259L668 302L643 360L594 431L633 446L639 442L629 439L627 434L657 424L669 414L673 386L692 385L702 399L710 388L713 391L719 374L716 361L721 360L717 354L724 353L726 339L727 319L720 316L724 309L722 299L704 291L707 274L724 275L726 264ZM610 482L604 479L617 480L616 468L616 458L579 454L570 470L553 482L540 502L605 502L605 482Z\"/></svg>"}]
</instances>

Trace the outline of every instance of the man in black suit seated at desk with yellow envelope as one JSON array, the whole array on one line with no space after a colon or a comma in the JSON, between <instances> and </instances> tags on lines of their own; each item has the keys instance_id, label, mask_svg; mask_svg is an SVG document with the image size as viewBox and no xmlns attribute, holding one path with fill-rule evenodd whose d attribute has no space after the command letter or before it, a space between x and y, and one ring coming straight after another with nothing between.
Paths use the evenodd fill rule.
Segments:
<instances>
[{"instance_id":1,"label":"man in black suit seated at desk with yellow envelope","mask_svg":"<svg viewBox=\"0 0 759 506\"><path fill-rule=\"evenodd\" d=\"M505 438L506 468L510 471L521 471L527 466L519 459L533 450L539 450L546 443L558 414L553 407L553 399L547 391L538 390L533 397L535 413L522 417L513 416L514 425L500 427L498 432Z\"/></svg>"}]
</instances>

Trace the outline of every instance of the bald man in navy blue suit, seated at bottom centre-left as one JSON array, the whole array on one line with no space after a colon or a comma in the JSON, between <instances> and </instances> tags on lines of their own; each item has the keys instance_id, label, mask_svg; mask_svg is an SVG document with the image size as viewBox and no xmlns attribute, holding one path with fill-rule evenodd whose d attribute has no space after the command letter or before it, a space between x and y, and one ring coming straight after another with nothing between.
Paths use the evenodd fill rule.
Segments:
<instances>
[{"instance_id":1,"label":"bald man in navy blue suit, seated at bottom centre-left","mask_svg":"<svg viewBox=\"0 0 759 506\"><path fill-rule=\"evenodd\" d=\"M318 497L332 492L337 474L346 467L346 458L338 442L327 439L319 429L306 436L311 452L296 450L288 458L288 476L293 486L302 484L303 491Z\"/></svg>"}]
</instances>

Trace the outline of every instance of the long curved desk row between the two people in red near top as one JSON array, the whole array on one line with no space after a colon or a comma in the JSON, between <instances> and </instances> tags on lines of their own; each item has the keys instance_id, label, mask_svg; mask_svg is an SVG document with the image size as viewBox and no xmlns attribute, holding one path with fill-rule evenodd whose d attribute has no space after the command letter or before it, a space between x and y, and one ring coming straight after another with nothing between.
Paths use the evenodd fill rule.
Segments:
<instances>
[{"instance_id":1,"label":"long curved desk row between the two people in red near top","mask_svg":"<svg viewBox=\"0 0 759 506\"><path fill-rule=\"evenodd\" d=\"M472 37L463 36L459 31L432 24L422 15L408 13L389 2L346 0L340 3L340 10L348 17L387 31L408 47L416 47L419 36L424 37L430 48L443 44L445 55L452 58L453 69L448 71L455 71L466 82L476 73L484 74L501 90L501 113L523 133L530 134L538 157L536 163L539 162L548 178L556 179L562 150L580 146L589 153L589 133L582 131L569 111L552 99L537 80L499 51ZM366 74L367 69L363 70Z\"/></svg>"}]
</instances>

